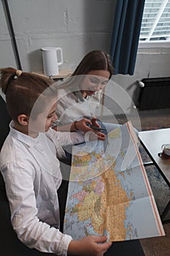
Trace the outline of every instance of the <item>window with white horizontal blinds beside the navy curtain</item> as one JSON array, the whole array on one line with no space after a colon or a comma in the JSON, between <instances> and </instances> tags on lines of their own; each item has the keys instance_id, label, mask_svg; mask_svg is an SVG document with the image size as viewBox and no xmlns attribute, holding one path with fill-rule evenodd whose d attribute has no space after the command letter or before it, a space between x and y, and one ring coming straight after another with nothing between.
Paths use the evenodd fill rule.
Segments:
<instances>
[{"instance_id":1,"label":"window with white horizontal blinds beside the navy curtain","mask_svg":"<svg viewBox=\"0 0 170 256\"><path fill-rule=\"evenodd\" d=\"M139 42L170 46L170 0L145 0Z\"/></svg>"}]
</instances>

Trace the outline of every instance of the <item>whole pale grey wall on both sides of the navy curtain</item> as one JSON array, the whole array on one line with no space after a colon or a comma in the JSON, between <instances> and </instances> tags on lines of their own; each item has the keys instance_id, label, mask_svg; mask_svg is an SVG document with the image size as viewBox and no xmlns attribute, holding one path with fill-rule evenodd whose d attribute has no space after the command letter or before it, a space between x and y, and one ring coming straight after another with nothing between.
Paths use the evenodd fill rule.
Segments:
<instances>
[{"instance_id":1,"label":"whole pale grey wall on both sides of the navy curtain","mask_svg":"<svg viewBox=\"0 0 170 256\"><path fill-rule=\"evenodd\" d=\"M12 37L4 5L0 1L0 67L15 67ZM63 49L61 69L71 69L93 49L109 53L115 1L112 0L8 0L24 71L42 70L41 48ZM125 112L133 112L139 87L137 78L170 76L170 49L142 49L136 59L134 75L115 75L114 80L134 100L127 102ZM107 88L112 96L112 86ZM112 103L107 106L114 113L120 110Z\"/></svg>"}]
</instances>

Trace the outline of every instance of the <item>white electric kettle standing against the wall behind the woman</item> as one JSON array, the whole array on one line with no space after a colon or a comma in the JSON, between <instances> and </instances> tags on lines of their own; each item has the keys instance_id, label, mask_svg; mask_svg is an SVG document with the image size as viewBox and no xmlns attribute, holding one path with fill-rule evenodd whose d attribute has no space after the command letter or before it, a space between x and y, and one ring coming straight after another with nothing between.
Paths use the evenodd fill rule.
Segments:
<instances>
[{"instance_id":1,"label":"white electric kettle standing against the wall behind the woman","mask_svg":"<svg viewBox=\"0 0 170 256\"><path fill-rule=\"evenodd\" d=\"M47 76L58 75L58 66L63 64L63 51L60 47L42 48L42 63ZM60 61L58 62L58 59Z\"/></svg>"}]
</instances>

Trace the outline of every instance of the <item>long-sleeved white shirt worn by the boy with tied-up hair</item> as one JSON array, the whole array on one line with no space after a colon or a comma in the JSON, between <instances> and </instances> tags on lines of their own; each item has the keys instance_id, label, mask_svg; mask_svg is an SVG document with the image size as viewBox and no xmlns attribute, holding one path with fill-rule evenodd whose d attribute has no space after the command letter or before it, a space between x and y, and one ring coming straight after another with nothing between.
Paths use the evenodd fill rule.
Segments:
<instances>
[{"instance_id":1,"label":"long-sleeved white shirt worn by the boy with tied-up hair","mask_svg":"<svg viewBox=\"0 0 170 256\"><path fill-rule=\"evenodd\" d=\"M0 154L11 221L18 238L30 248L66 255L71 236L59 228L57 190L61 170L56 154L61 146L84 141L82 133L50 129L31 138L12 128Z\"/></svg>"}]
</instances>

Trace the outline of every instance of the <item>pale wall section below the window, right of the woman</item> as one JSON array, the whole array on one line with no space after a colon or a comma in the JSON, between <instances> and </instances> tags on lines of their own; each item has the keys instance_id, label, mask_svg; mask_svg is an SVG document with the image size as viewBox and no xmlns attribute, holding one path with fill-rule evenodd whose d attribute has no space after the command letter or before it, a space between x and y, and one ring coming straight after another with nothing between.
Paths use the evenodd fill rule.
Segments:
<instances>
[{"instance_id":1,"label":"pale wall section below the window, right of the woman","mask_svg":"<svg viewBox=\"0 0 170 256\"><path fill-rule=\"evenodd\" d=\"M136 80L158 77L170 77L170 48L139 49L134 75L114 75L112 77L112 80L132 99L132 102L127 99L125 113L136 113L134 107L138 105L140 91L139 83L136 83ZM108 87L107 94L112 94L112 86ZM107 107L112 113L120 112L114 104L109 104L109 102L107 102Z\"/></svg>"}]
</instances>

